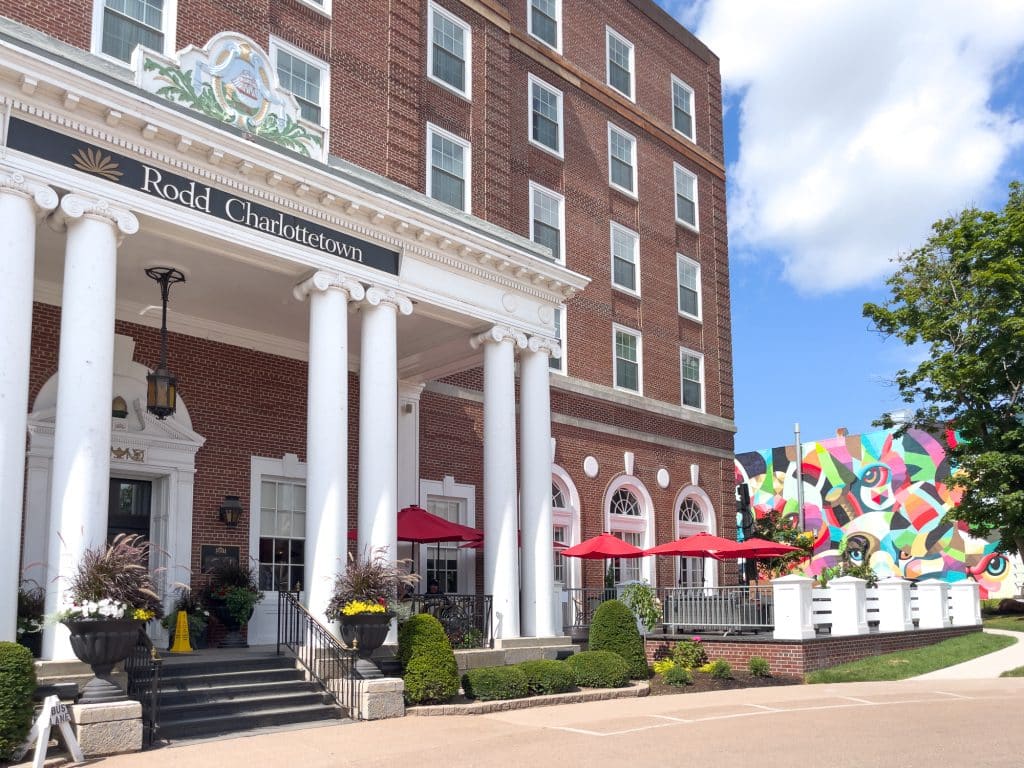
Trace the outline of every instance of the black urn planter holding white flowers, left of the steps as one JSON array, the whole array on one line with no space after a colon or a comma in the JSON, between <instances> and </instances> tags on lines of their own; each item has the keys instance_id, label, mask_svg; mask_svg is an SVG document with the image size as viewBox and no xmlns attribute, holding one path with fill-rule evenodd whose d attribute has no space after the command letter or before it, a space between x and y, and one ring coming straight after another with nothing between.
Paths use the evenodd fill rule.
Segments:
<instances>
[{"instance_id":1,"label":"black urn planter holding white flowers, left of the steps","mask_svg":"<svg viewBox=\"0 0 1024 768\"><path fill-rule=\"evenodd\" d=\"M138 642L142 622L134 618L67 618L75 655L92 668L95 677L85 684L79 703L124 701L128 697L111 677Z\"/></svg>"}]
</instances>

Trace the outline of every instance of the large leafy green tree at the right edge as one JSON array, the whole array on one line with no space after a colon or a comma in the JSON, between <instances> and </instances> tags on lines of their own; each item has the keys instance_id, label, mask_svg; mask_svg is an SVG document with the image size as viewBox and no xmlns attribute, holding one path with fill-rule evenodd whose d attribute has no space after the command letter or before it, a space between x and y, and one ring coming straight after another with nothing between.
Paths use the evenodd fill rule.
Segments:
<instances>
[{"instance_id":1,"label":"large leafy green tree at the right edge","mask_svg":"<svg viewBox=\"0 0 1024 768\"><path fill-rule=\"evenodd\" d=\"M925 245L896 259L884 304L864 304L876 329L927 359L896 375L918 427L955 430L965 489L951 517L997 531L1024 554L1024 187L1002 211L971 208L937 221Z\"/></svg>"}]
</instances>

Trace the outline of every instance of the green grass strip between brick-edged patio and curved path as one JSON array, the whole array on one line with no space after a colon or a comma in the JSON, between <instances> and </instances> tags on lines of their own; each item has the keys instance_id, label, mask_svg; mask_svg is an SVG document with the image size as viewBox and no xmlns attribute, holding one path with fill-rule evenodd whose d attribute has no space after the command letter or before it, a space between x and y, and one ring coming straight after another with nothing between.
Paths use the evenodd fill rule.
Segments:
<instances>
[{"instance_id":1,"label":"green grass strip between brick-edged patio and curved path","mask_svg":"<svg viewBox=\"0 0 1024 768\"><path fill-rule=\"evenodd\" d=\"M812 672L808 683L852 683L863 680L903 680L926 672L952 667L977 656L1006 648L1017 642L1006 635L985 635L981 632L953 637L926 648L901 650L881 656L850 662L827 670Z\"/></svg>"}]
</instances>

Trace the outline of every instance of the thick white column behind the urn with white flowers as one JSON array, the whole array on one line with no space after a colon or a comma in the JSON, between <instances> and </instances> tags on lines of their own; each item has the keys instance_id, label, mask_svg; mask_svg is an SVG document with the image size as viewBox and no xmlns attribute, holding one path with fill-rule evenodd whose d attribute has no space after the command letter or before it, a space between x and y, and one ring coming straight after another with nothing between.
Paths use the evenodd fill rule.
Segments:
<instances>
[{"instance_id":1,"label":"thick white column behind the urn with white flowers","mask_svg":"<svg viewBox=\"0 0 1024 768\"><path fill-rule=\"evenodd\" d=\"M57 610L82 554L106 540L114 397L114 310L118 246L138 219L106 201L66 195L55 218L66 228L57 408L46 611ZM43 657L74 658L62 625L43 634Z\"/></svg>"}]
</instances>

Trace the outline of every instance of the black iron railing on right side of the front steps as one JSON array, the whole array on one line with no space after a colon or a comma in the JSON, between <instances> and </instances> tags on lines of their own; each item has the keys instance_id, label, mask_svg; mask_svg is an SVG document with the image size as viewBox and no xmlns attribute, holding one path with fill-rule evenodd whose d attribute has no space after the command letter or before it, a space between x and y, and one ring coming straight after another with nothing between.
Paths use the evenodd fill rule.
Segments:
<instances>
[{"instance_id":1,"label":"black iron railing on right side of the front steps","mask_svg":"<svg viewBox=\"0 0 1024 768\"><path fill-rule=\"evenodd\" d=\"M299 602L296 592L278 593L278 655L288 648L310 678L348 717L357 720L358 681L352 677L355 652L345 648Z\"/></svg>"}]
</instances>

